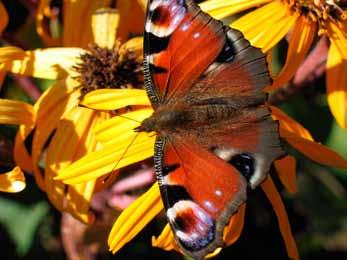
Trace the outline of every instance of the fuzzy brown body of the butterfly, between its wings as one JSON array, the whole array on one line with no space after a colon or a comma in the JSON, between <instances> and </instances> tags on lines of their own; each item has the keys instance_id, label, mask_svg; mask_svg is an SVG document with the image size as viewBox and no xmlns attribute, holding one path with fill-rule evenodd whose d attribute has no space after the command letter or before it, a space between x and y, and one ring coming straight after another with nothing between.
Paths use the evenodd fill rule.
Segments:
<instances>
[{"instance_id":1,"label":"fuzzy brown body of the butterfly, between its wings","mask_svg":"<svg viewBox=\"0 0 347 260\"><path fill-rule=\"evenodd\" d=\"M196 129L218 123L238 113L227 104L197 104L184 106L161 106L151 117L145 119L137 131L157 133L173 132L177 129Z\"/></svg>"}]
</instances>

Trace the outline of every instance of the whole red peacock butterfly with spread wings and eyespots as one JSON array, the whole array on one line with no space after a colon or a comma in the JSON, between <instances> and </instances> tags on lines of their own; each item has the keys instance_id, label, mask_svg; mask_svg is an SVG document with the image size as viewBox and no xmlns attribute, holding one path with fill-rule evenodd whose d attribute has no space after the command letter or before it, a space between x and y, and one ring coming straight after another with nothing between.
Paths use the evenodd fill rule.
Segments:
<instances>
[{"instance_id":1,"label":"whole red peacock butterfly with spread wings and eyespots","mask_svg":"<svg viewBox=\"0 0 347 260\"><path fill-rule=\"evenodd\" d=\"M283 155L265 106L264 54L191 0L150 0L145 88L154 108L136 131L157 133L154 163L177 244L201 259Z\"/></svg>"}]
</instances>

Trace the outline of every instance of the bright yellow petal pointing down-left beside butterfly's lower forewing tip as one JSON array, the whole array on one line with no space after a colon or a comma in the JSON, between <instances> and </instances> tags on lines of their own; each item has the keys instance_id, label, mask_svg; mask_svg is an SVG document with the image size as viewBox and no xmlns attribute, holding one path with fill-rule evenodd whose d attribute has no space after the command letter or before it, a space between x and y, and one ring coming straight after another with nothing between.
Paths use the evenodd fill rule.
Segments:
<instances>
[{"instance_id":1,"label":"bright yellow petal pointing down-left beside butterfly's lower forewing tip","mask_svg":"<svg viewBox=\"0 0 347 260\"><path fill-rule=\"evenodd\" d=\"M108 237L108 246L116 253L133 239L156 215L163 210L158 183L134 201L114 223Z\"/></svg>"}]
</instances>

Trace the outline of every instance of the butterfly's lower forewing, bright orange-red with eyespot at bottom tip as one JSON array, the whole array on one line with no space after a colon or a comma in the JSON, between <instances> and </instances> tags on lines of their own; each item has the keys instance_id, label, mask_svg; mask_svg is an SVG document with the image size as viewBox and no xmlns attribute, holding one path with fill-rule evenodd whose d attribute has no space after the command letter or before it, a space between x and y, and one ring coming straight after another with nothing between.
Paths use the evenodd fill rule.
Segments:
<instances>
[{"instance_id":1,"label":"butterfly's lower forewing, bright orange-red with eyespot at bottom tip","mask_svg":"<svg viewBox=\"0 0 347 260\"><path fill-rule=\"evenodd\" d=\"M155 158L168 221L181 248L200 259L222 246L224 226L246 200L246 179L188 137L158 138Z\"/></svg>"}]
</instances>

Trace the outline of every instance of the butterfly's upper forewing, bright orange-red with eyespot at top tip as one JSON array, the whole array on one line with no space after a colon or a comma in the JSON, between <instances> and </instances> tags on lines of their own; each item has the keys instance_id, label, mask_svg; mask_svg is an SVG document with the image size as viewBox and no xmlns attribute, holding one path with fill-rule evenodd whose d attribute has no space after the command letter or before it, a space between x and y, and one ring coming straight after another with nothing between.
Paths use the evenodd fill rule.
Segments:
<instances>
[{"instance_id":1,"label":"butterfly's upper forewing, bright orange-red with eyespot at top tip","mask_svg":"<svg viewBox=\"0 0 347 260\"><path fill-rule=\"evenodd\" d=\"M157 107L189 91L224 45L221 22L191 1L151 1L145 26L145 79ZM153 89L153 87L155 88Z\"/></svg>"}]
</instances>

